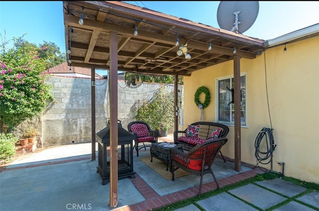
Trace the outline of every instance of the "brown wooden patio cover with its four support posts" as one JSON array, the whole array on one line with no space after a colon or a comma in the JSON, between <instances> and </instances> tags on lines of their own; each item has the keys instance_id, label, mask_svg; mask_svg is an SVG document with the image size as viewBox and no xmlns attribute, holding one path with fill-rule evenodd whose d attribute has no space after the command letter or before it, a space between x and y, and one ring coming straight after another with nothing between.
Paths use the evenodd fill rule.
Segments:
<instances>
[{"instance_id":1,"label":"brown wooden patio cover with its four support posts","mask_svg":"<svg viewBox=\"0 0 319 211\"><path fill-rule=\"evenodd\" d=\"M240 58L256 58L264 50L264 40L121 1L63 1L63 13L69 65L92 69L92 160L95 160L95 69L110 70L110 169L117 170L118 70L173 75L178 111L179 76L190 76L193 71L233 60L234 158L235 170L240 171ZM174 129L177 128L178 115L174 122ZM110 207L117 206L117 181L118 172L111 171Z\"/></svg>"}]
</instances>

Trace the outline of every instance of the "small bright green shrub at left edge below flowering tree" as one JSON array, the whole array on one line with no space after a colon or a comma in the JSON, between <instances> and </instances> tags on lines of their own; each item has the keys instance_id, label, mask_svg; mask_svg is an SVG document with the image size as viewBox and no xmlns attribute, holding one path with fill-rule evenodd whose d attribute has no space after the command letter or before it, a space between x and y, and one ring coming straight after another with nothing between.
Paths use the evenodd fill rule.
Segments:
<instances>
[{"instance_id":1,"label":"small bright green shrub at left edge below flowering tree","mask_svg":"<svg viewBox=\"0 0 319 211\"><path fill-rule=\"evenodd\" d=\"M15 155L15 142L19 139L12 133L0 134L0 161L9 161Z\"/></svg>"}]
</instances>

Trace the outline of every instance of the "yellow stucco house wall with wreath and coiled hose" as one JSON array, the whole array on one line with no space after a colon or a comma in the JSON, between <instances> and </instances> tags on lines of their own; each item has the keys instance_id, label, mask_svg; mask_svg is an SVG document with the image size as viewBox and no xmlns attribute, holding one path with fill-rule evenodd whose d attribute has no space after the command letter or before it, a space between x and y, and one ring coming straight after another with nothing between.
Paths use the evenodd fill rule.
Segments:
<instances>
[{"instance_id":1,"label":"yellow stucco house wall with wreath and coiled hose","mask_svg":"<svg viewBox=\"0 0 319 211\"><path fill-rule=\"evenodd\" d=\"M286 54L283 49L281 45L267 49L256 59L240 59L241 72L246 72L247 79L247 127L241 127L241 161L257 164L255 139L272 123L277 144L273 171L282 172L277 163L284 162L285 176L319 183L319 37L287 44ZM200 86L208 87L211 94L202 121L216 121L216 78L229 75L233 75L233 61L184 77L184 129L200 120L200 110L194 103L194 93ZM200 100L204 101L204 94ZM234 158L234 127L229 128L222 153ZM271 169L270 164L259 166Z\"/></svg>"}]
</instances>

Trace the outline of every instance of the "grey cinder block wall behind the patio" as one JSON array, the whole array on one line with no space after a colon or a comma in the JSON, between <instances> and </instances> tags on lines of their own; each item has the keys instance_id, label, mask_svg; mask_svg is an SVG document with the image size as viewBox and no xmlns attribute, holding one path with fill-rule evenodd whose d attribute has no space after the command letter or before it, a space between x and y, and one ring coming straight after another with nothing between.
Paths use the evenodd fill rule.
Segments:
<instances>
[{"instance_id":1,"label":"grey cinder block wall behind the patio","mask_svg":"<svg viewBox=\"0 0 319 211\"><path fill-rule=\"evenodd\" d=\"M41 145L52 146L91 142L91 79L74 76L52 76L49 84L57 103L50 104L43 112ZM107 126L110 117L108 80L96 79L95 83L96 132ZM135 106L149 100L159 84L143 83L129 88L125 81L118 81L118 119L123 128L135 120ZM173 91L173 85L165 85ZM41 146L39 146L41 147Z\"/></svg>"}]
</instances>

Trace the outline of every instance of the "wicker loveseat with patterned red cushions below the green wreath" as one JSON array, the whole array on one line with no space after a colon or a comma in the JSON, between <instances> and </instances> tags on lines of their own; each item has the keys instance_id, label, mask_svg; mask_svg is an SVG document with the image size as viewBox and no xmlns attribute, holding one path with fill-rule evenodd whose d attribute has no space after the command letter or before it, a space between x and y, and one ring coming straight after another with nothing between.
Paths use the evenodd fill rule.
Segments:
<instances>
[{"instance_id":1,"label":"wicker loveseat with patterned red cushions below the green wreath","mask_svg":"<svg viewBox=\"0 0 319 211\"><path fill-rule=\"evenodd\" d=\"M228 132L228 126L221 123L194 122L183 131L174 131L174 144L182 146L183 150L190 151L208 139L226 137ZM221 152L220 155L225 161Z\"/></svg>"}]
</instances>

